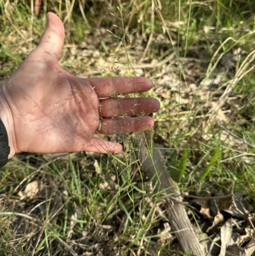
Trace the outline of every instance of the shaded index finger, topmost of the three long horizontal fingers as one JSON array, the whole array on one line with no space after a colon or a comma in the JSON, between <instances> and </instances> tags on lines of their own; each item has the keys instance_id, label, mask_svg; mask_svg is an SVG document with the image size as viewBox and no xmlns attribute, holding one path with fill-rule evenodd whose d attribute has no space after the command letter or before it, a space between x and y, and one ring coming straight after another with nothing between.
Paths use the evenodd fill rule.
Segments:
<instances>
[{"instance_id":1,"label":"shaded index finger, topmost of the three long horizontal fingers","mask_svg":"<svg viewBox=\"0 0 255 256\"><path fill-rule=\"evenodd\" d=\"M89 79L98 98L115 96L116 94L142 93L149 91L153 83L146 77L108 77Z\"/></svg>"}]
</instances>

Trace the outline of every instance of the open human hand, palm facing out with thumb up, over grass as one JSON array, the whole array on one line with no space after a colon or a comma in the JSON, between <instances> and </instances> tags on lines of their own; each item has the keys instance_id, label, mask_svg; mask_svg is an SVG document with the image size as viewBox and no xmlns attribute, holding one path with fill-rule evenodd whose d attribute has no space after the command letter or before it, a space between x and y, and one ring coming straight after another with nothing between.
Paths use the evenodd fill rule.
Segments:
<instances>
[{"instance_id":1,"label":"open human hand, palm facing out with thumb up, over grass","mask_svg":"<svg viewBox=\"0 0 255 256\"><path fill-rule=\"evenodd\" d=\"M120 144L94 137L100 121L99 132L107 135L154 125L152 117L128 116L156 112L156 99L116 98L148 91L149 79L75 77L59 65L63 43L64 26L54 13L48 13L38 47L0 87L0 117L8 132L9 158L20 151L117 153L122 150Z\"/></svg>"}]
</instances>

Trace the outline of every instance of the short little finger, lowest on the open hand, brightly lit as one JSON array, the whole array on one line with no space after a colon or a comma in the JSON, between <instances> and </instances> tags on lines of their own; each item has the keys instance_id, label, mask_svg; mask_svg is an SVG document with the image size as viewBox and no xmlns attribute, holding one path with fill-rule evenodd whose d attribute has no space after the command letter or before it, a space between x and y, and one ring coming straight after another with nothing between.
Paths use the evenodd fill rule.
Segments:
<instances>
[{"instance_id":1,"label":"short little finger, lowest on the open hand, brightly lit","mask_svg":"<svg viewBox=\"0 0 255 256\"><path fill-rule=\"evenodd\" d=\"M120 151L122 151L122 146L116 142L109 142L107 140L93 138L83 150L103 154L119 153Z\"/></svg>"}]
</instances>

